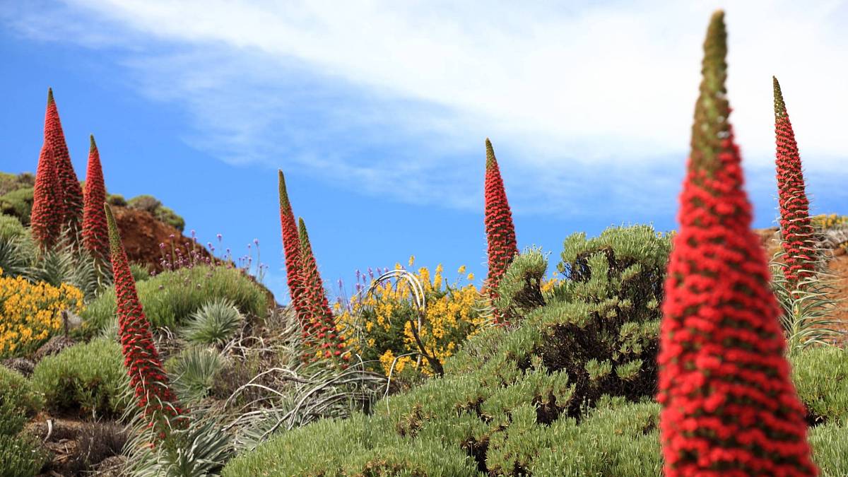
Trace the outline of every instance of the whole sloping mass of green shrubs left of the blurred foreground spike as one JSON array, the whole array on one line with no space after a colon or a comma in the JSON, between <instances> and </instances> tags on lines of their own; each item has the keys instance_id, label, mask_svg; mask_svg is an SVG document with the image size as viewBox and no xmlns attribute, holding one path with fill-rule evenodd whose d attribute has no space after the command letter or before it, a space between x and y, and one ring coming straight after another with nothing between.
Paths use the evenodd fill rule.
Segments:
<instances>
[{"instance_id":1,"label":"whole sloping mass of green shrubs left of the blurred foreground spike","mask_svg":"<svg viewBox=\"0 0 848 477\"><path fill-rule=\"evenodd\" d=\"M563 279L546 292L544 256L516 257L498 303L521 314L511 314L510 327L472 337L447 358L444 378L377 402L369 417L281 435L232 461L225 475L271 468L303 475L658 474L659 407L650 397L669 247L644 226L616 227L597 239L574 235L563 250ZM557 350L566 339L571 353ZM367 435L349 437L356 432Z\"/></svg>"}]
</instances>

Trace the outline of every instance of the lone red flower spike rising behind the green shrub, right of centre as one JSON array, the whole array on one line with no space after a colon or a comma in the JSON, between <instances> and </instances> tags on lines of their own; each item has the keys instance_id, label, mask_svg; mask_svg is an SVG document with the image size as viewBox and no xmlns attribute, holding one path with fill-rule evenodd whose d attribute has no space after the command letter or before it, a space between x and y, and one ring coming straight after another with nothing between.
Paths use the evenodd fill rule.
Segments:
<instances>
[{"instance_id":1,"label":"lone red flower spike rising behind the green shrub, right of centre","mask_svg":"<svg viewBox=\"0 0 848 477\"><path fill-rule=\"evenodd\" d=\"M498 298L500 278L518 254L516 227L512 224L510 204L506 201L504 181L500 178L498 160L494 158L492 143L486 138L486 240L488 242L488 278L486 287L489 297ZM494 321L502 317L494 310Z\"/></svg>"}]
</instances>

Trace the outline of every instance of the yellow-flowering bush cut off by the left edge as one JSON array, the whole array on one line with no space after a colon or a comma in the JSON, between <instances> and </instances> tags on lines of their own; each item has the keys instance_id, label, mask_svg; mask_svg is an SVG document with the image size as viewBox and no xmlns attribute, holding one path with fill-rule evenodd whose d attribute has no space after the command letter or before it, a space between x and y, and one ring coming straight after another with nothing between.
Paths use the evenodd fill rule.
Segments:
<instances>
[{"instance_id":1,"label":"yellow-flowering bush cut off by the left edge","mask_svg":"<svg viewBox=\"0 0 848 477\"><path fill-rule=\"evenodd\" d=\"M0 358L35 351L62 328L62 310L83 307L82 291L67 283L31 283L0 269Z\"/></svg>"}]
</instances>

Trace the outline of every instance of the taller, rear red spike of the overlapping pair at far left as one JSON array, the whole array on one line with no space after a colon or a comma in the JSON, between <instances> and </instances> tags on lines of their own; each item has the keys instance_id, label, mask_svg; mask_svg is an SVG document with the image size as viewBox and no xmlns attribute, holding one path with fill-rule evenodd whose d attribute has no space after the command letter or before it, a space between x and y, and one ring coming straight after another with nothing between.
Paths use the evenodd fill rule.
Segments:
<instances>
[{"instance_id":1,"label":"taller, rear red spike of the overlapping pair at far left","mask_svg":"<svg viewBox=\"0 0 848 477\"><path fill-rule=\"evenodd\" d=\"M62 188L62 225L69 227L71 237L80 232L82 223L82 188L70 163L68 145L64 142L59 109L53 101L53 90L47 92L47 116L44 119L44 143L53 151L53 161Z\"/></svg>"}]
</instances>

